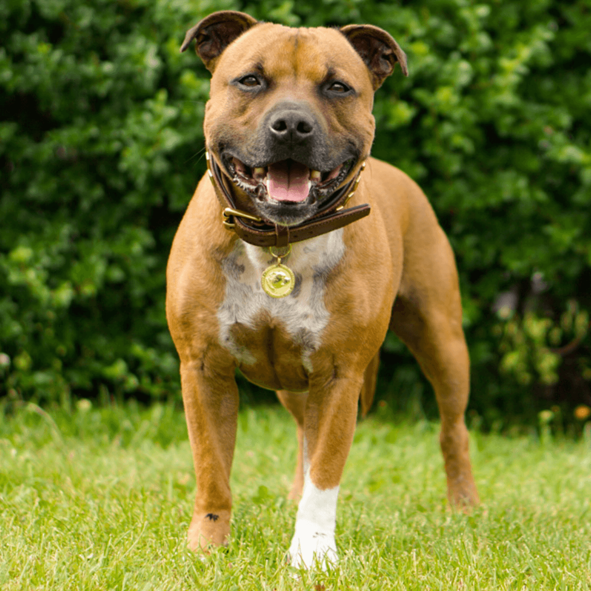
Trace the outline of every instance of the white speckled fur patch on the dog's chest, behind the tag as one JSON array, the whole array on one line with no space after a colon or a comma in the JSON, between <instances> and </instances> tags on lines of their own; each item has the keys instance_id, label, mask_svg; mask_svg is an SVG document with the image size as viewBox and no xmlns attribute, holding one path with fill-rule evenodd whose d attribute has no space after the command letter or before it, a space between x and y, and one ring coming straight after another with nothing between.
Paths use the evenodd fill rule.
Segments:
<instances>
[{"instance_id":1,"label":"white speckled fur patch on the dog's chest, behind the tag","mask_svg":"<svg viewBox=\"0 0 591 591\"><path fill-rule=\"evenodd\" d=\"M230 327L241 323L254 328L256 317L266 311L272 319L282 323L294 342L301 345L303 365L311 372L310 354L319 346L320 336L329 321L324 306L324 284L343 254L342 228L294 243L291 254L282 262L294 272L296 285L289 296L272 298L262 290L261 276L276 259L267 248L238 240L232 254L222 262L226 293L217 310L222 346L238 362L255 363L248 347L238 345L232 338Z\"/></svg>"}]
</instances>

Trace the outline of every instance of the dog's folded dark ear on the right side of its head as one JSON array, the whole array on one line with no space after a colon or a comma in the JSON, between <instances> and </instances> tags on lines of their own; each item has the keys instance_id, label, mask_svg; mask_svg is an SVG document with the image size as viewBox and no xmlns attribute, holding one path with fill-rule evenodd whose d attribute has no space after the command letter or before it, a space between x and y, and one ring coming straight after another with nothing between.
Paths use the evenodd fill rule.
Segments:
<instances>
[{"instance_id":1,"label":"dog's folded dark ear on the right side of its head","mask_svg":"<svg viewBox=\"0 0 591 591\"><path fill-rule=\"evenodd\" d=\"M406 54L383 29L373 25L346 25L340 28L340 32L348 38L349 43L365 61L374 90L378 90L384 79L394 72L397 61L404 75L408 76Z\"/></svg>"}]
</instances>

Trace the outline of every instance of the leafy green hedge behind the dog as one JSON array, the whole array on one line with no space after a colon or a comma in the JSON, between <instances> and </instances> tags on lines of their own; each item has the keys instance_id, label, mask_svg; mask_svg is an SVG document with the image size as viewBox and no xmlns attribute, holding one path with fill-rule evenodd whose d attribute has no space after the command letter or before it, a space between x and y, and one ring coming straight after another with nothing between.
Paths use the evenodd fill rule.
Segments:
<instances>
[{"instance_id":1,"label":"leafy green hedge behind the dog","mask_svg":"<svg viewBox=\"0 0 591 591\"><path fill-rule=\"evenodd\" d=\"M397 38L410 76L376 95L373 153L452 241L474 412L590 404L590 0L0 4L0 396L178 396L164 267L204 171L209 80L178 47L219 9ZM378 398L433 413L393 336L383 359Z\"/></svg>"}]
</instances>

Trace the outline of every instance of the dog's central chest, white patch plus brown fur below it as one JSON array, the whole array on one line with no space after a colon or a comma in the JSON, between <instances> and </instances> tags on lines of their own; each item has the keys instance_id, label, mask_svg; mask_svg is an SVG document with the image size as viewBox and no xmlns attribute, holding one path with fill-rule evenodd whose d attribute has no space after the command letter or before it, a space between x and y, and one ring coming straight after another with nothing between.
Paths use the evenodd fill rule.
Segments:
<instances>
[{"instance_id":1,"label":"dog's central chest, white patch plus brown fur below it","mask_svg":"<svg viewBox=\"0 0 591 591\"><path fill-rule=\"evenodd\" d=\"M272 298L261 276L276 259L267 248L236 242L222 262L226 289L217 319L220 344L249 379L269 388L307 388L310 355L329 322L324 287L344 252L342 229L294 243L284 264L296 285L289 296Z\"/></svg>"}]
</instances>

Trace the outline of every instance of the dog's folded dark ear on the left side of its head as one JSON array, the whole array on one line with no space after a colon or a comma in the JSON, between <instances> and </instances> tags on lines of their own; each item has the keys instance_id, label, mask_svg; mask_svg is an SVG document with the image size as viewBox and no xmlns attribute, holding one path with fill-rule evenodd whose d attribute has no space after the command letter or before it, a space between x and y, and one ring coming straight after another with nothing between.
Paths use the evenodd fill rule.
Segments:
<instances>
[{"instance_id":1,"label":"dog's folded dark ear on the left side of its head","mask_svg":"<svg viewBox=\"0 0 591 591\"><path fill-rule=\"evenodd\" d=\"M195 51L203 60L205 67L213 74L217 58L222 51L244 31L256 25L258 21L244 12L222 10L199 21L190 28L181 45L181 53L196 40Z\"/></svg>"}]
</instances>

